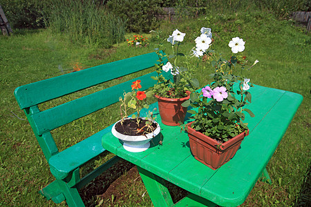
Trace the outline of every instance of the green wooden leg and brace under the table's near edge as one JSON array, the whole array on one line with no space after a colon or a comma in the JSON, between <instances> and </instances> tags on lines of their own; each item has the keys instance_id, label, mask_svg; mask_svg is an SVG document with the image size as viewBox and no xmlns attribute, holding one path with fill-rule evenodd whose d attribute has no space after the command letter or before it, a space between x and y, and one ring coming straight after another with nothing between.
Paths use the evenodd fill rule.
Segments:
<instances>
[{"instance_id":1,"label":"green wooden leg and brace under the table's near edge","mask_svg":"<svg viewBox=\"0 0 311 207\"><path fill-rule=\"evenodd\" d=\"M186 197L178 201L176 204L173 204L173 200L171 199L171 195L169 194L169 190L167 190L167 186L165 186L164 179L154 175L152 172L148 170L144 170L137 166L138 172L140 172L140 177L142 177L142 181L144 182L144 186L147 188L149 196L154 206L217 206L211 201L189 193Z\"/></svg>"}]
</instances>

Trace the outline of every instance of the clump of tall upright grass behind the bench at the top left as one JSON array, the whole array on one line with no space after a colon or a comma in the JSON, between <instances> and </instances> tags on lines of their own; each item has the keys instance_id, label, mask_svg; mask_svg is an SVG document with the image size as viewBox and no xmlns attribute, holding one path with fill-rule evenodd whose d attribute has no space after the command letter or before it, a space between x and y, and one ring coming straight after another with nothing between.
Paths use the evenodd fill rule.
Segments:
<instances>
[{"instance_id":1,"label":"clump of tall upright grass behind the bench at the top left","mask_svg":"<svg viewBox=\"0 0 311 207\"><path fill-rule=\"evenodd\" d=\"M67 34L75 43L104 48L124 41L126 32L126 21L109 14L93 1L55 1L48 26L53 32Z\"/></svg>"}]
</instances>

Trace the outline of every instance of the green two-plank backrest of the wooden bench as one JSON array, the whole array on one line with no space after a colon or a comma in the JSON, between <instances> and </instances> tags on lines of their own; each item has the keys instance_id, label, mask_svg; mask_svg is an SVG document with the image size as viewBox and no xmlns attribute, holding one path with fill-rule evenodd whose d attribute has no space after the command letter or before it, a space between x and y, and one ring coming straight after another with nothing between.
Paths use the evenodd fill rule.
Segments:
<instances>
[{"instance_id":1,"label":"green two-plank backrest of the wooden bench","mask_svg":"<svg viewBox=\"0 0 311 207\"><path fill-rule=\"evenodd\" d=\"M143 83L141 90L146 90L156 83L151 77L156 76L157 73L151 72L142 77L94 92L91 95L86 95L47 110L40 111L38 104L129 75L133 72L151 68L158 63L158 55L156 52L151 52L16 88L15 97L19 107L25 111L46 159L58 152L50 130L116 103L119 101L119 97L122 97L124 90L131 90L131 84L136 79L140 79ZM169 73L164 72L163 74L167 79L171 79Z\"/></svg>"}]
</instances>

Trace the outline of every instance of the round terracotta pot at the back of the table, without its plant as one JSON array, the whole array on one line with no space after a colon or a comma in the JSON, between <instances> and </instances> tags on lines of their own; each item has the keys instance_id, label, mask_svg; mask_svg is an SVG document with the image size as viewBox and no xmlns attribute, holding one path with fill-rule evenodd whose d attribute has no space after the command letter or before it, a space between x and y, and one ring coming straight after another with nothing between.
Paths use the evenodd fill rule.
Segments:
<instances>
[{"instance_id":1,"label":"round terracotta pot at the back of the table, without its plant","mask_svg":"<svg viewBox=\"0 0 311 207\"><path fill-rule=\"evenodd\" d=\"M159 97L158 105L159 112L162 119L162 123L167 126L178 126L179 121L184 122L185 116L187 114L187 107L181 106L181 104L190 99L190 91L186 91L187 97L181 99L170 99Z\"/></svg>"}]
</instances>

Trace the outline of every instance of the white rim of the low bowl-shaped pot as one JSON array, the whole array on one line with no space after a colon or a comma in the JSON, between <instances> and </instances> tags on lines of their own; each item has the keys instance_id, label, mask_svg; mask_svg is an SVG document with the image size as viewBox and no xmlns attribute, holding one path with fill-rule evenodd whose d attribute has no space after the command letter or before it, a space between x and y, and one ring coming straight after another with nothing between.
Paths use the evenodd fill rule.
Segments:
<instances>
[{"instance_id":1,"label":"white rim of the low bowl-shaped pot","mask_svg":"<svg viewBox=\"0 0 311 207\"><path fill-rule=\"evenodd\" d=\"M140 117L142 119L145 119L145 117ZM125 119L132 119L131 117L126 117ZM149 119L150 121L152 121L153 123L157 124L157 127L155 130L153 130L153 132L150 132L146 135L124 135L120 132L117 132L117 130L115 130L115 124L119 123L121 121L121 119L117 122L115 122L115 124L113 124L113 127L111 128L111 133L113 134L113 136L117 137L117 139L121 139L124 141L146 141L149 139L152 139L153 137L156 137L156 135L158 135L160 133L160 125L158 124L158 122L154 121L153 119Z\"/></svg>"}]
</instances>

